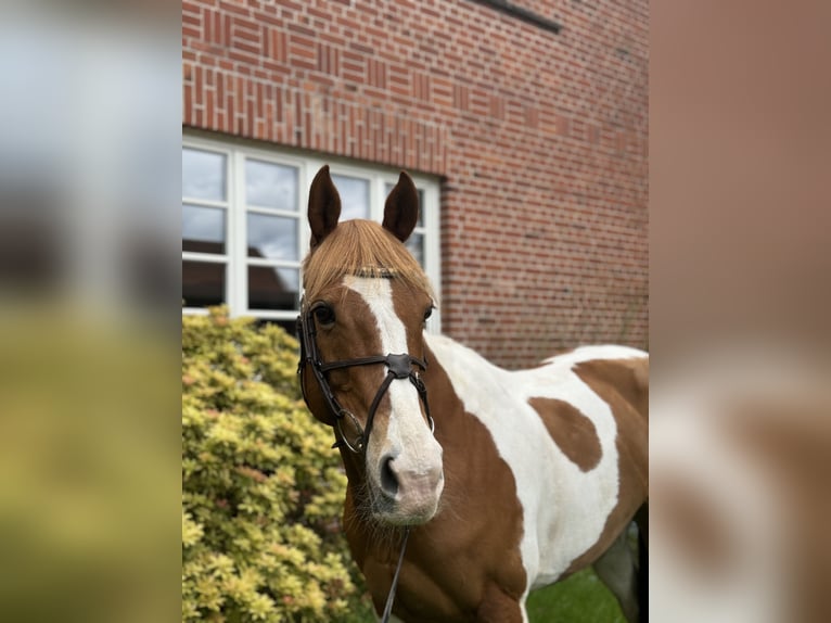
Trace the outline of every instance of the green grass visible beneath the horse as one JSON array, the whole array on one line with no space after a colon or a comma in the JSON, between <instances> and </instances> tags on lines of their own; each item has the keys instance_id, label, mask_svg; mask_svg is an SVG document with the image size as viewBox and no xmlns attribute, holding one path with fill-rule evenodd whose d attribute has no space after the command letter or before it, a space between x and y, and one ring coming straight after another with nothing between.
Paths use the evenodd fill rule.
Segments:
<instances>
[{"instance_id":1,"label":"green grass visible beneath the horse","mask_svg":"<svg viewBox=\"0 0 831 623\"><path fill-rule=\"evenodd\" d=\"M369 598L365 597L359 606L348 623L378 621ZM535 590L527 606L530 623L625 623L617 601L591 569Z\"/></svg>"}]
</instances>

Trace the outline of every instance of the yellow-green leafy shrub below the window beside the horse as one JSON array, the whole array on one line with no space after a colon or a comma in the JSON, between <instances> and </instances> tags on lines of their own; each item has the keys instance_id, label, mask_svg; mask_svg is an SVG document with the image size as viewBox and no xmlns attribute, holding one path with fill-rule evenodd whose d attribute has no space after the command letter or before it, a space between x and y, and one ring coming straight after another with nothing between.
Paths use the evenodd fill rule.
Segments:
<instances>
[{"instance_id":1,"label":"yellow-green leafy shrub below the window beside the horse","mask_svg":"<svg viewBox=\"0 0 831 623\"><path fill-rule=\"evenodd\" d=\"M297 343L225 308L182 318L182 620L363 608L335 518L346 478L301 399Z\"/></svg>"}]
</instances>

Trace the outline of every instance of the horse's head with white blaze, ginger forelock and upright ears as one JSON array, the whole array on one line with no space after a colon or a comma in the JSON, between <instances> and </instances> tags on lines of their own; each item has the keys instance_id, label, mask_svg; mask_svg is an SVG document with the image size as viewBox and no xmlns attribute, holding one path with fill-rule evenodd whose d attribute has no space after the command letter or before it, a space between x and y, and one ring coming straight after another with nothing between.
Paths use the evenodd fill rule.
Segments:
<instances>
[{"instance_id":1,"label":"horse's head with white blaze, ginger forelock and upright ears","mask_svg":"<svg viewBox=\"0 0 831 623\"><path fill-rule=\"evenodd\" d=\"M442 446L420 378L434 301L404 245L418 211L418 192L405 173L386 200L383 226L338 225L341 199L328 166L309 191L304 395L315 417L335 427L347 470L355 468L350 478L366 479L374 518L393 524L432 519L444 488Z\"/></svg>"}]
</instances>

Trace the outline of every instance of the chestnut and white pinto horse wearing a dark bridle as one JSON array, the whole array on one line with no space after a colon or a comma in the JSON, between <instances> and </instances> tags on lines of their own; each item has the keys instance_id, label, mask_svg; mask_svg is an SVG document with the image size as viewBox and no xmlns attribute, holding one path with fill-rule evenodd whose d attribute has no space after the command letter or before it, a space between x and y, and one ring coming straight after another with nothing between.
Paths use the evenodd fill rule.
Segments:
<instances>
[{"instance_id":1,"label":"chestnut and white pinto horse wearing a dark bridle","mask_svg":"<svg viewBox=\"0 0 831 623\"><path fill-rule=\"evenodd\" d=\"M309 189L298 373L334 429L342 525L376 612L527 622L530 590L593 565L645 620L628 527L645 544L648 354L581 346L509 371L427 333L436 296L404 244L418 213L405 171L382 224L338 223L328 165Z\"/></svg>"}]
</instances>

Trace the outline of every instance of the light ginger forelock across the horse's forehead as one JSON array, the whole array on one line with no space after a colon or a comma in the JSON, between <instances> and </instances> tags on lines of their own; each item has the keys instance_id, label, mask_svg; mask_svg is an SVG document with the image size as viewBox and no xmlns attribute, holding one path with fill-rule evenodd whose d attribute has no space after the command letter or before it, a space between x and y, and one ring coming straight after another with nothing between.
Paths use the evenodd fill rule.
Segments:
<instances>
[{"instance_id":1,"label":"light ginger forelock across the horse's forehead","mask_svg":"<svg viewBox=\"0 0 831 623\"><path fill-rule=\"evenodd\" d=\"M303 260L306 300L314 301L327 285L346 275L396 279L435 301L427 276L407 247L378 223L363 219L337 225Z\"/></svg>"}]
</instances>

